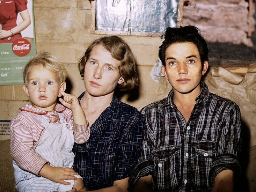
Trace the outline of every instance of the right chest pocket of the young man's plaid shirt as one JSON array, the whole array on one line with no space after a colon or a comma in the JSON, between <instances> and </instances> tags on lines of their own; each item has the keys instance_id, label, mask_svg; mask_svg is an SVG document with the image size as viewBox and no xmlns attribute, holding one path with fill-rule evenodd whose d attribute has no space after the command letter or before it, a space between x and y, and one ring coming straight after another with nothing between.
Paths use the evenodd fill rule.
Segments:
<instances>
[{"instance_id":1,"label":"right chest pocket of the young man's plaid shirt","mask_svg":"<svg viewBox=\"0 0 256 192\"><path fill-rule=\"evenodd\" d=\"M197 189L209 189L209 172L214 158L214 141L198 141L192 143L192 168Z\"/></svg>"}]
</instances>

